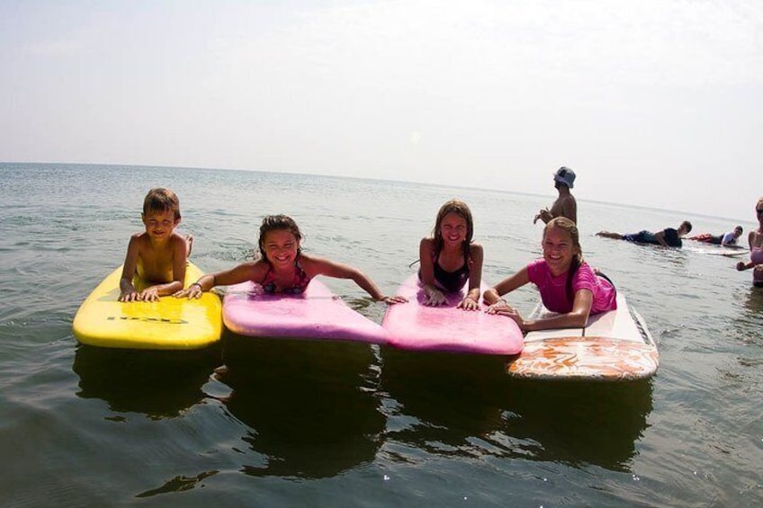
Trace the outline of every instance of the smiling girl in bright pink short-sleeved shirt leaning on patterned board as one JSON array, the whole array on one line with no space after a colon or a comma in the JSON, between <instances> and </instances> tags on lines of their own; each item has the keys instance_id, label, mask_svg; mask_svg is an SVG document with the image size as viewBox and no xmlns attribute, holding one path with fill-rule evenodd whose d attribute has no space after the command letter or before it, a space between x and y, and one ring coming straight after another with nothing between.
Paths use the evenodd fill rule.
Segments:
<instances>
[{"instance_id":1,"label":"smiling girl in bright pink short-sleeved shirt leaning on patterned board","mask_svg":"<svg viewBox=\"0 0 763 508\"><path fill-rule=\"evenodd\" d=\"M569 218L554 218L543 228L543 259L529 263L511 277L485 291L489 314L509 316L525 331L547 328L581 328L588 316L614 310L616 291L612 282L599 276L583 261L578 227ZM533 282L541 292L543 306L556 316L525 320L501 299L510 291Z\"/></svg>"}]
</instances>

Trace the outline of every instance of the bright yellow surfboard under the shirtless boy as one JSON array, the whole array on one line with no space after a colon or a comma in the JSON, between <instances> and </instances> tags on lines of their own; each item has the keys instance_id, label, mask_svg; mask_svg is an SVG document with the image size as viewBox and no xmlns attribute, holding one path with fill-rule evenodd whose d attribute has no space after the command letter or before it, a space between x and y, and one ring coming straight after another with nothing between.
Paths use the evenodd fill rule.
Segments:
<instances>
[{"instance_id":1,"label":"bright yellow surfboard under the shirtless boy","mask_svg":"<svg viewBox=\"0 0 763 508\"><path fill-rule=\"evenodd\" d=\"M121 302L120 266L85 299L76 312L72 330L80 343L130 349L200 349L220 340L220 298L204 293L201 299L162 297L156 302ZM203 272L193 263L185 269L185 286ZM135 281L142 290L144 281Z\"/></svg>"}]
</instances>

